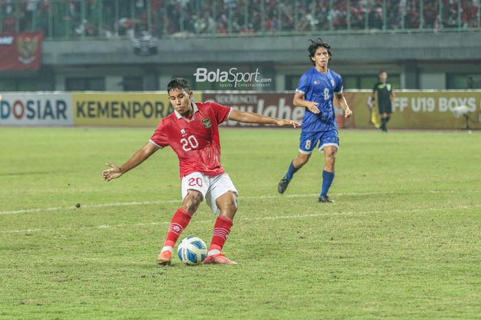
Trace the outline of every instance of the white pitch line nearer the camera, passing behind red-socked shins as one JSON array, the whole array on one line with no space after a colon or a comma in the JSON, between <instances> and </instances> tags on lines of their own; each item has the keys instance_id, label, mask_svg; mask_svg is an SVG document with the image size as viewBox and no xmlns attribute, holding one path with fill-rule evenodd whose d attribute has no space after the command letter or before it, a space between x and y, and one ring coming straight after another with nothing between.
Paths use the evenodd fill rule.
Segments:
<instances>
[{"instance_id":1,"label":"white pitch line nearer the camera, passing behind red-socked shins","mask_svg":"<svg viewBox=\"0 0 481 320\"><path fill-rule=\"evenodd\" d=\"M385 213L418 213L424 211L436 211L436 210L466 210L466 209L474 209L474 208L481 208L481 204L476 206L452 206L449 208L441 207L441 208L425 208L425 209L394 209L394 210L372 210L372 211L337 211L331 213L304 213L304 214L297 214L297 215L267 215L262 217L240 217L236 219L236 223L238 222L249 222L249 221L262 221L262 220L280 220L280 219L304 219L306 217L324 217L324 216L335 216L335 215L370 215L374 213L385 214ZM214 219L211 220L192 220L192 224L205 224L210 223L212 224ZM0 233L32 233L32 232L39 232L39 231L82 231L86 229L109 229L109 228L126 228L131 226L167 226L170 224L170 221L164 222L141 222L136 224L114 224L114 225L106 225L102 224L100 226L83 226L80 228L34 228L34 229L23 229L23 230L5 230L0 231Z\"/></svg>"}]
</instances>

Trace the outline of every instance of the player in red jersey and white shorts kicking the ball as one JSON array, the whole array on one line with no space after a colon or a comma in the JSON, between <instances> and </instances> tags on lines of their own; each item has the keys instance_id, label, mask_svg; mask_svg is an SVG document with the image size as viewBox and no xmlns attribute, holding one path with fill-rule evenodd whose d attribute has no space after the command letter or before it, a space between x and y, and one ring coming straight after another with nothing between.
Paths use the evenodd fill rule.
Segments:
<instances>
[{"instance_id":1,"label":"player in red jersey and white shorts kicking the ball","mask_svg":"<svg viewBox=\"0 0 481 320\"><path fill-rule=\"evenodd\" d=\"M236 264L221 253L237 211L238 191L221 166L219 125L228 119L280 127L298 127L300 124L293 120L238 111L217 103L194 103L193 93L183 78L170 81L167 92L175 111L161 120L146 145L134 153L122 167L107 164L110 168L104 170L102 176L106 181L119 178L144 162L155 151L170 146L179 157L183 200L172 217L157 263L170 264L175 242L205 199L212 212L219 216L214 224L214 235L203 264Z\"/></svg>"}]
</instances>

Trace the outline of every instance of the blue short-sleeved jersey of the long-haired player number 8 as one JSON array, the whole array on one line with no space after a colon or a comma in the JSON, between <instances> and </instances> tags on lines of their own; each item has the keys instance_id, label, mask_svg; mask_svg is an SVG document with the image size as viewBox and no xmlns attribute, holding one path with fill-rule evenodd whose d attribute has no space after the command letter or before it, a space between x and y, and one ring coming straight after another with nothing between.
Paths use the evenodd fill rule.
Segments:
<instances>
[{"instance_id":1,"label":"blue short-sleeved jersey of the long-haired player number 8","mask_svg":"<svg viewBox=\"0 0 481 320\"><path fill-rule=\"evenodd\" d=\"M302 74L295 92L304 94L306 101L318 103L319 114L313 114L306 108L302 120L302 131L327 131L337 129L337 122L334 113L334 93L342 92L342 78L339 74L327 70L325 74L311 68Z\"/></svg>"}]
</instances>

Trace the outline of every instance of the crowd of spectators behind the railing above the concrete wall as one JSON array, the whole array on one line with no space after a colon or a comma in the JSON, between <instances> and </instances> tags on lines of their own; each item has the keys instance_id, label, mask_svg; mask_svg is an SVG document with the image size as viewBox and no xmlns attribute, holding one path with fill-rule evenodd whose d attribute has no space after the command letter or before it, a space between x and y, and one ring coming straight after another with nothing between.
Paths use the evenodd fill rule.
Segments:
<instances>
[{"instance_id":1,"label":"crowd of spectators behind the railing above the concrete wall","mask_svg":"<svg viewBox=\"0 0 481 320\"><path fill-rule=\"evenodd\" d=\"M458 2L460 1L460 2ZM0 0L1 32L47 36L480 28L479 0Z\"/></svg>"}]
</instances>

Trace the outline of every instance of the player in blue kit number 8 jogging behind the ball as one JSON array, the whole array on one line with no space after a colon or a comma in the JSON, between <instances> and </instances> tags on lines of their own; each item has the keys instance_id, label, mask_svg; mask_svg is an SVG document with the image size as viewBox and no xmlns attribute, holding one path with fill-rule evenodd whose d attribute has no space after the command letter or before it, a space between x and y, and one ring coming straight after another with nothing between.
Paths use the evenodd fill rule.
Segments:
<instances>
[{"instance_id":1,"label":"player in blue kit number 8 jogging behind the ball","mask_svg":"<svg viewBox=\"0 0 481 320\"><path fill-rule=\"evenodd\" d=\"M344 116L349 118L350 111L346 98L342 94L342 78L339 74L328 69L332 57L331 46L318 38L311 40L309 45L309 59L314 67L303 74L299 85L295 89L294 105L306 107L302 131L300 136L299 155L292 160L286 175L278 184L279 193L286 191L293 175L311 158L316 145L324 152L326 160L322 171L322 189L320 202L334 202L327 193L334 180L334 163L339 148L337 136L337 122L335 118L333 97L336 96L339 106L344 109Z\"/></svg>"}]
</instances>

